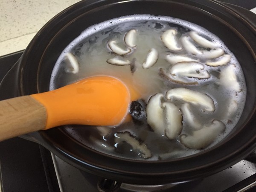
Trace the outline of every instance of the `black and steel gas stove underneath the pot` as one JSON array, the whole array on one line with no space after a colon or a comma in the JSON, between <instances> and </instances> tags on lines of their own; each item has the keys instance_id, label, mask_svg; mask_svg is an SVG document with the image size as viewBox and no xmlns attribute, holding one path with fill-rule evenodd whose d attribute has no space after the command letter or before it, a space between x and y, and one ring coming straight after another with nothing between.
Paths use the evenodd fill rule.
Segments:
<instances>
[{"instance_id":1,"label":"black and steel gas stove underneath the pot","mask_svg":"<svg viewBox=\"0 0 256 192\"><path fill-rule=\"evenodd\" d=\"M255 0L223 1L246 9L256 7ZM244 12L244 9L235 8ZM20 51L0 57L0 82L22 53L23 51ZM256 155L251 154L246 160L241 160L230 168L202 180L145 186L117 183L82 172L43 146L17 137L0 143L0 192L252 192L256 191L254 156Z\"/></svg>"}]
</instances>

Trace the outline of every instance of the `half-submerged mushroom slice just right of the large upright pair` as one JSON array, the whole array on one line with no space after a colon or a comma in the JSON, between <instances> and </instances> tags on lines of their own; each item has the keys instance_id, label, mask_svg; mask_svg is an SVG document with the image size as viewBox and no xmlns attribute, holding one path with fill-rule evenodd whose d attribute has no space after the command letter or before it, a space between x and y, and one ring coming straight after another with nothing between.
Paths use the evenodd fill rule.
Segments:
<instances>
[{"instance_id":1,"label":"half-submerged mushroom slice just right of the large upright pair","mask_svg":"<svg viewBox=\"0 0 256 192\"><path fill-rule=\"evenodd\" d=\"M192 114L190 105L188 103L182 104L180 110L183 114L183 120L187 122L190 128L193 130L199 130L202 128L202 124Z\"/></svg>"}]
</instances>

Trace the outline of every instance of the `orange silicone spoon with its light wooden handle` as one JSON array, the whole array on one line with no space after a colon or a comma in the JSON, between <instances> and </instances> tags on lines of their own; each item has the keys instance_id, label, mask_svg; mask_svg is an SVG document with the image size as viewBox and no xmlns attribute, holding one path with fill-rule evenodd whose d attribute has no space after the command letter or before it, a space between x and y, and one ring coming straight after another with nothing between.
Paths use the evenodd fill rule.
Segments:
<instances>
[{"instance_id":1,"label":"orange silicone spoon with its light wooden handle","mask_svg":"<svg viewBox=\"0 0 256 192\"><path fill-rule=\"evenodd\" d=\"M0 141L59 125L118 125L131 90L110 76L94 76L45 93L0 101Z\"/></svg>"}]
</instances>

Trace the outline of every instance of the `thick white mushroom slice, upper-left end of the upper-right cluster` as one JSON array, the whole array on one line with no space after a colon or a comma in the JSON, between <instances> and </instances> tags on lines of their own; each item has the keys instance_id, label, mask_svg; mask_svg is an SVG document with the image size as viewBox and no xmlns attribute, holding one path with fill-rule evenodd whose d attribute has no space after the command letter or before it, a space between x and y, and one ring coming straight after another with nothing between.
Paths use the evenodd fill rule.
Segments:
<instances>
[{"instance_id":1,"label":"thick white mushroom slice, upper-left end of the upper-right cluster","mask_svg":"<svg viewBox=\"0 0 256 192\"><path fill-rule=\"evenodd\" d=\"M177 30L169 29L161 35L161 40L163 44L172 51L181 51L182 47L178 46L177 42Z\"/></svg>"}]
</instances>

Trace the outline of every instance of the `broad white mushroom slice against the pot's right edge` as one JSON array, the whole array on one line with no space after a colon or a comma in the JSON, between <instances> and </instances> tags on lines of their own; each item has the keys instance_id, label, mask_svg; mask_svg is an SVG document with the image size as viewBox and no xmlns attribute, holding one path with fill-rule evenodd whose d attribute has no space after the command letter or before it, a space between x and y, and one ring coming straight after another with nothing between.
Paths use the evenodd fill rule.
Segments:
<instances>
[{"instance_id":1,"label":"broad white mushroom slice against the pot's right edge","mask_svg":"<svg viewBox=\"0 0 256 192\"><path fill-rule=\"evenodd\" d=\"M223 85L229 90L234 90L237 92L241 91L241 87L239 82L237 81L236 73L235 73L236 66L231 64L221 70L220 73L220 85Z\"/></svg>"}]
</instances>

